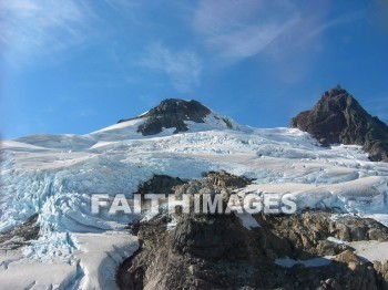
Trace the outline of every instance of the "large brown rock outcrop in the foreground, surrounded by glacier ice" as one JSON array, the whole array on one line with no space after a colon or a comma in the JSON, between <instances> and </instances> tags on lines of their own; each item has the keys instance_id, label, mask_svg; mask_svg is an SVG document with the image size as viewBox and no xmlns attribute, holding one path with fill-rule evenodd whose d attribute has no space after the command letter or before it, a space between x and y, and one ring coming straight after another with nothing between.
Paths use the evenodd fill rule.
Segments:
<instances>
[{"instance_id":1,"label":"large brown rock outcrop in the foreground, surrounded by glacier ice","mask_svg":"<svg viewBox=\"0 0 388 290\"><path fill-rule=\"evenodd\" d=\"M174 179L174 178L172 178ZM233 188L245 186L242 177L211 172L204 178L171 187L175 195L221 194L227 200ZM337 216L336 216L337 217ZM387 289L387 263L361 260L347 245L328 240L388 240L386 227L371 219L337 217L328 211L295 216L255 215L259 228L248 230L231 215L161 213L137 221L141 247L116 273L120 289ZM275 260L306 260L335 256L326 266L292 268Z\"/></svg>"}]
</instances>

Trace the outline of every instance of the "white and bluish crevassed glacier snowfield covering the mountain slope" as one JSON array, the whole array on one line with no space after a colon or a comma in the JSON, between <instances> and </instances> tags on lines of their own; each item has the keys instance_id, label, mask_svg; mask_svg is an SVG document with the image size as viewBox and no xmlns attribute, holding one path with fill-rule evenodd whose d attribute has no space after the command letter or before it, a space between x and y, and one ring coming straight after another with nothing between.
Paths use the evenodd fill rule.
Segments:
<instances>
[{"instance_id":1,"label":"white and bluish crevassed glacier snowfield covering the mountain slope","mask_svg":"<svg viewBox=\"0 0 388 290\"><path fill-rule=\"evenodd\" d=\"M132 194L153 174L197 178L224 169L255 178L242 193L289 193L298 209L337 208L388 226L388 164L359 146L324 148L295 128L258 130L216 114L190 131L142 136L145 118L86 135L32 135L1 143L0 231L39 214L41 237L0 252L7 289L112 289L114 266L137 247L139 217L91 213L91 194ZM246 217L244 221L249 226ZM119 232L120 231L120 232ZM12 270L14 269L14 270ZM112 276L113 275L113 276Z\"/></svg>"}]
</instances>

